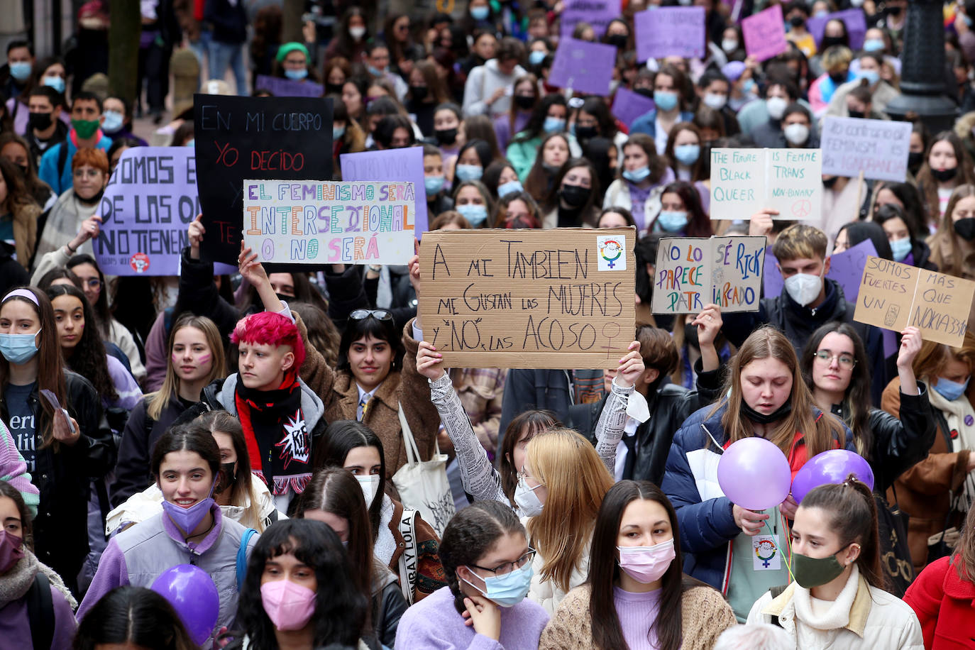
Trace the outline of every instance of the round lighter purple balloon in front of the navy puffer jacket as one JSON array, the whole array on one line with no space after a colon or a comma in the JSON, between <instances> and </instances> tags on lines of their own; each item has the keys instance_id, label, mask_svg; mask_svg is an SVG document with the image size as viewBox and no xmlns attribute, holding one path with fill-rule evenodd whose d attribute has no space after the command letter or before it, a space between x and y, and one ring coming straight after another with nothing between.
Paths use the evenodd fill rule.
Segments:
<instances>
[{"instance_id":1,"label":"round lighter purple balloon in front of the navy puffer jacket","mask_svg":"<svg viewBox=\"0 0 975 650\"><path fill-rule=\"evenodd\" d=\"M766 510L786 500L792 470L782 450L763 438L743 438L718 461L724 496L746 510Z\"/></svg>"}]
</instances>

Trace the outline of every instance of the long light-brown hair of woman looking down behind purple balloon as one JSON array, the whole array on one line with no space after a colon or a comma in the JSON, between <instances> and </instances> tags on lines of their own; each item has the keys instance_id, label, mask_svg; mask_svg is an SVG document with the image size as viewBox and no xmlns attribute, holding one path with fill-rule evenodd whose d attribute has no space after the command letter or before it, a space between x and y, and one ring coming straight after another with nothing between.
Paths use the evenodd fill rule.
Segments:
<instances>
[{"instance_id":1,"label":"long light-brown hair of woman looking down behind purple balloon","mask_svg":"<svg viewBox=\"0 0 975 650\"><path fill-rule=\"evenodd\" d=\"M772 325L763 325L753 331L738 350L738 354L731 358L731 371L728 373L728 379L725 383L725 389L730 389L731 393L727 398L719 401L710 413L710 415L714 415L722 405L727 405L727 409L722 415L722 427L728 440L734 442L755 435L751 424L741 415L743 401L741 372L749 363L769 358L784 363L789 368L789 372L792 373L793 386L792 394L789 396L789 400L792 401L792 410L782 418L779 426L768 440L782 449L782 453L786 457L789 457L792 451L797 432L802 433L809 458L834 448L834 441L838 441L839 445L843 446L846 440L846 432L839 421L828 414L820 417L813 416L815 404L812 401L812 394L802 380L796 350L786 335Z\"/></svg>"}]
</instances>

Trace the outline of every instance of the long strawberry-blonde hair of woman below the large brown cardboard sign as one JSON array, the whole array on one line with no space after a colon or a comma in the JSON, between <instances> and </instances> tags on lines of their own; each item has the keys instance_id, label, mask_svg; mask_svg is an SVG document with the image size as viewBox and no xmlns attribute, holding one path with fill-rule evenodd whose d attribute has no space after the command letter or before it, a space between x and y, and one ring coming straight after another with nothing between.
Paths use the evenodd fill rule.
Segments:
<instances>
[{"instance_id":1,"label":"long strawberry-blonde hair of woman below the large brown cardboard sign","mask_svg":"<svg viewBox=\"0 0 975 650\"><path fill-rule=\"evenodd\" d=\"M527 525L531 545L544 560L541 577L567 592L613 478L592 442L571 429L535 435L528 441L526 462L548 492L541 515Z\"/></svg>"}]
</instances>

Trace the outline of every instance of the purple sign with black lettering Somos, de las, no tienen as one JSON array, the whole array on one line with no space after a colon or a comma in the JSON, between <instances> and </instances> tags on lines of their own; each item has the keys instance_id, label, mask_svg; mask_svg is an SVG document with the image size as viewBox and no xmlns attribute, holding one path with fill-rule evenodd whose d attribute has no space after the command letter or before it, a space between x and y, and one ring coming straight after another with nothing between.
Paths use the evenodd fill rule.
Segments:
<instances>
[{"instance_id":1,"label":"purple sign with black lettering Somos, de las, no tienen","mask_svg":"<svg viewBox=\"0 0 975 650\"><path fill-rule=\"evenodd\" d=\"M126 149L98 205L93 242L105 275L176 276L200 213L193 147Z\"/></svg>"}]
</instances>

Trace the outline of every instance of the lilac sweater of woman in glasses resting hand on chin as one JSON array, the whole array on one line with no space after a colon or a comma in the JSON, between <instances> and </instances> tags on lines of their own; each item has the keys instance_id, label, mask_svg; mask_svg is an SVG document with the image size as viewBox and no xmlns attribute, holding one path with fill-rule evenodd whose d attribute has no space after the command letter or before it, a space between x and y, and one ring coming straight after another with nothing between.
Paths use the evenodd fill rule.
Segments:
<instances>
[{"instance_id":1,"label":"lilac sweater of woman in glasses resting hand on chin","mask_svg":"<svg viewBox=\"0 0 975 650\"><path fill-rule=\"evenodd\" d=\"M537 650L548 614L541 605L523 600L501 608L501 640L495 641L464 625L444 587L410 607L396 631L396 650Z\"/></svg>"}]
</instances>

